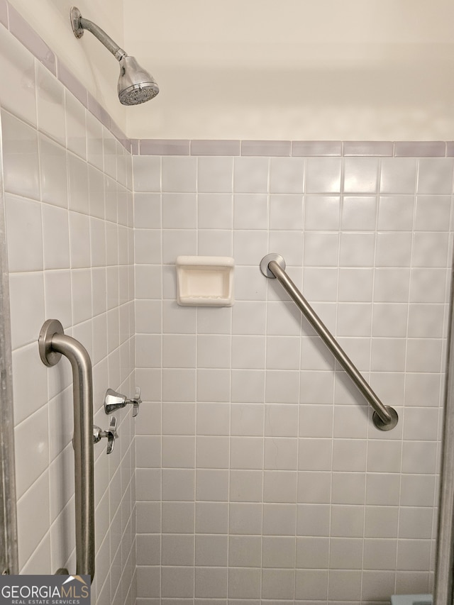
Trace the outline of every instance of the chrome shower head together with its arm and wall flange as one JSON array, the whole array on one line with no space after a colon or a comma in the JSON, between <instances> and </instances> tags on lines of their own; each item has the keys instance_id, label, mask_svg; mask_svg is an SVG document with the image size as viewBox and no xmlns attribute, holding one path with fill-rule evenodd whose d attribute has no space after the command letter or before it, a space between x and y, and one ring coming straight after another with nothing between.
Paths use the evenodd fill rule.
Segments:
<instances>
[{"instance_id":1,"label":"chrome shower head together with its arm and wall flange","mask_svg":"<svg viewBox=\"0 0 454 605\"><path fill-rule=\"evenodd\" d=\"M76 38L82 38L84 29L89 30L114 55L120 63L118 78L118 99L123 105L138 105L153 99L159 92L155 79L140 67L134 57L129 57L118 44L95 23L84 19L79 9L71 9L71 25Z\"/></svg>"}]
</instances>

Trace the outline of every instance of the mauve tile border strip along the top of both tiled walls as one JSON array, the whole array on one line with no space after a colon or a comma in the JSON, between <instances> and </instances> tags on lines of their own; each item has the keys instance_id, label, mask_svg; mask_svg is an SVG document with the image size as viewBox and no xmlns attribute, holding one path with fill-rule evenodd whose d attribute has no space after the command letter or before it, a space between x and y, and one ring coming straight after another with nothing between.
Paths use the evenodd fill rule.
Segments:
<instances>
[{"instance_id":1,"label":"mauve tile border strip along the top of both tiled walls","mask_svg":"<svg viewBox=\"0 0 454 605\"><path fill-rule=\"evenodd\" d=\"M8 0L0 0L0 23L28 48L132 155L454 157L454 141L128 139L109 113Z\"/></svg>"}]
</instances>

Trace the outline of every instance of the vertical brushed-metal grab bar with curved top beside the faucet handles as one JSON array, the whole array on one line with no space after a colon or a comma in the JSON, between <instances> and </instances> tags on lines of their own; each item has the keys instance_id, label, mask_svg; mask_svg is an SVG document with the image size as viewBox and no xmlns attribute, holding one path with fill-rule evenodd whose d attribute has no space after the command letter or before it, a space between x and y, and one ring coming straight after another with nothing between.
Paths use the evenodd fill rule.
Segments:
<instances>
[{"instance_id":1,"label":"vertical brushed-metal grab bar with curved top beside the faucet handles","mask_svg":"<svg viewBox=\"0 0 454 605\"><path fill-rule=\"evenodd\" d=\"M65 355L72 367L74 396L74 479L77 575L94 577L93 380L87 349L65 335L56 319L43 323L38 340L42 362L55 365Z\"/></svg>"}]
</instances>

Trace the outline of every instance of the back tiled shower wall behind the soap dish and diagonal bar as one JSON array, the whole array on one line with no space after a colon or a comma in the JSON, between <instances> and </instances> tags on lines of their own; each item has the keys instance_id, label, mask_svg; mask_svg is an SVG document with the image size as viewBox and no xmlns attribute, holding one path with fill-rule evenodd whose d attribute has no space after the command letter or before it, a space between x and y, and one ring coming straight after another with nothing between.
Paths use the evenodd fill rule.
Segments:
<instances>
[{"instance_id":1,"label":"back tiled shower wall behind the soap dish and diagonal bar","mask_svg":"<svg viewBox=\"0 0 454 605\"><path fill-rule=\"evenodd\" d=\"M140 142L138 604L358 604L431 590L453 221L445 151ZM267 252L397 409L393 431L373 426L262 275ZM233 256L234 306L178 306L177 255Z\"/></svg>"}]
</instances>

